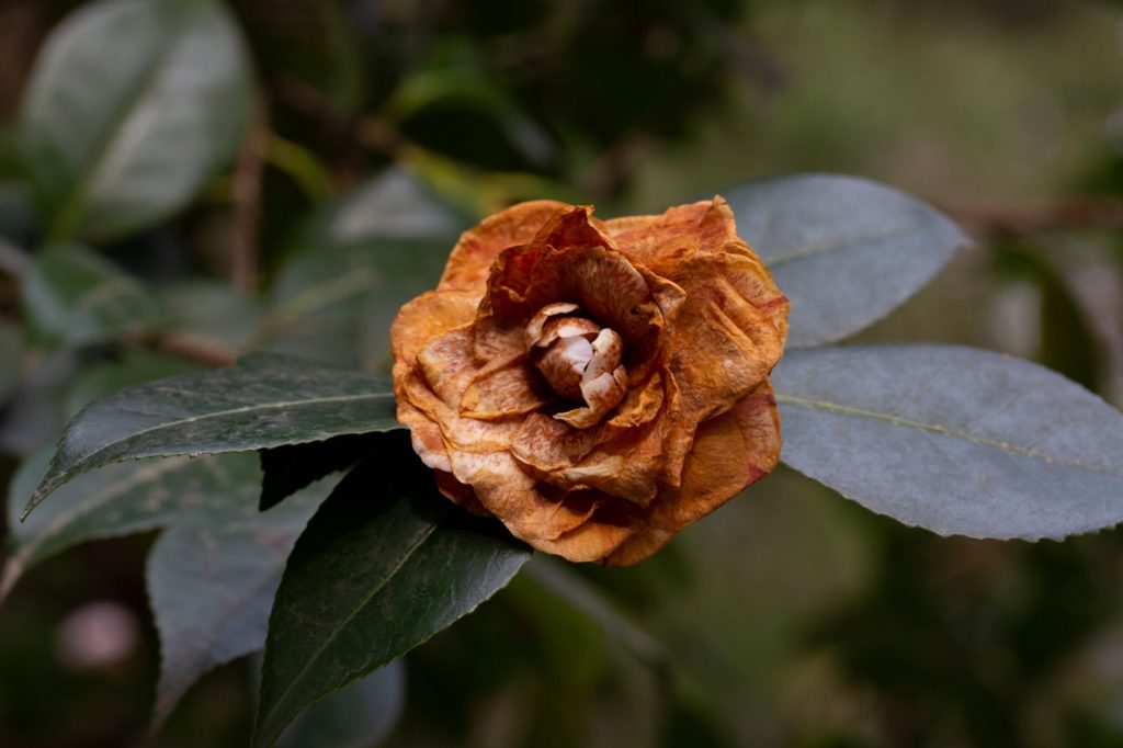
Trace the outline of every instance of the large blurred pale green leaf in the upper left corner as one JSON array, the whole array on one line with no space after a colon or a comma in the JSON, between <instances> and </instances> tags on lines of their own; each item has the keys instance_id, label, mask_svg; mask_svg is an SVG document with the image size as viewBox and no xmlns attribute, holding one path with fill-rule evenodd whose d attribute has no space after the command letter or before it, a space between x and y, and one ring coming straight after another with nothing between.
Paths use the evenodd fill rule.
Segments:
<instances>
[{"instance_id":1,"label":"large blurred pale green leaf in the upper left corner","mask_svg":"<svg viewBox=\"0 0 1123 748\"><path fill-rule=\"evenodd\" d=\"M250 88L221 2L101 0L71 15L19 121L47 236L109 240L183 208L237 150Z\"/></svg>"}]
</instances>

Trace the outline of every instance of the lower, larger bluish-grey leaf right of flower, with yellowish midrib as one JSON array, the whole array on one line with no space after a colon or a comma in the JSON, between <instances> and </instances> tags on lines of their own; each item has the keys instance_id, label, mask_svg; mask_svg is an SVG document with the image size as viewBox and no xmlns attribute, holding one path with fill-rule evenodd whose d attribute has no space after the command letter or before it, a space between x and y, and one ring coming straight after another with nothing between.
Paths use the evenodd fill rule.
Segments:
<instances>
[{"instance_id":1,"label":"lower, larger bluish-grey leaf right of flower, with yellowish midrib","mask_svg":"<svg viewBox=\"0 0 1123 748\"><path fill-rule=\"evenodd\" d=\"M1037 364L820 348L786 355L773 381L784 462L905 524L1039 539L1123 520L1123 413Z\"/></svg>"}]
</instances>

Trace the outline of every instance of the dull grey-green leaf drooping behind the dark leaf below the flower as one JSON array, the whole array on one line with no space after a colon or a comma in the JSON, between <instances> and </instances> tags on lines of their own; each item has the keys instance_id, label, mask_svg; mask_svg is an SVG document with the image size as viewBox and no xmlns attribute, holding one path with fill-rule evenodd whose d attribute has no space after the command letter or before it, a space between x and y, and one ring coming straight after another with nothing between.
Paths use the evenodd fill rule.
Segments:
<instances>
[{"instance_id":1,"label":"dull grey-green leaf drooping behind the dark leaf below the flower","mask_svg":"<svg viewBox=\"0 0 1123 748\"><path fill-rule=\"evenodd\" d=\"M229 455L211 462L238 471L235 491L221 502L182 512L148 556L148 599L161 639L156 726L204 673L265 645L285 559L327 494L313 486L262 514L253 458Z\"/></svg>"}]
</instances>

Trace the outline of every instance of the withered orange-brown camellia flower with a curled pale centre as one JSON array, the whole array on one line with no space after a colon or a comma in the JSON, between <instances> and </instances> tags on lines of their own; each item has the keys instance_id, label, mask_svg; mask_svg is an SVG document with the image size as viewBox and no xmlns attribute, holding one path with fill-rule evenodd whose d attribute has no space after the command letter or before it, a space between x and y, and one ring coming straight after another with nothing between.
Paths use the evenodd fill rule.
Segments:
<instances>
[{"instance_id":1,"label":"withered orange-brown camellia flower with a curled pale centre","mask_svg":"<svg viewBox=\"0 0 1123 748\"><path fill-rule=\"evenodd\" d=\"M721 198L609 221L521 203L399 312L398 418L453 501L633 564L776 466L787 310Z\"/></svg>"}]
</instances>

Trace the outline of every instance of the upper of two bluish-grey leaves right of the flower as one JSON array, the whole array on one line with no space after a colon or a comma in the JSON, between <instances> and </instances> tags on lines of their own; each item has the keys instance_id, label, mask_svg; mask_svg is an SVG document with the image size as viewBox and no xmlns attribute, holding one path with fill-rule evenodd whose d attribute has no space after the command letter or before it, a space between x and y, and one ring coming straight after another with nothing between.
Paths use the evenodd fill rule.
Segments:
<instances>
[{"instance_id":1,"label":"upper of two bluish-grey leaves right of the flower","mask_svg":"<svg viewBox=\"0 0 1123 748\"><path fill-rule=\"evenodd\" d=\"M784 176L725 198L738 234L792 301L789 348L832 343L885 317L968 244L929 206L851 176Z\"/></svg>"}]
</instances>

